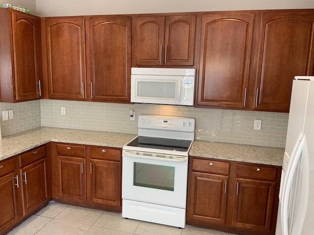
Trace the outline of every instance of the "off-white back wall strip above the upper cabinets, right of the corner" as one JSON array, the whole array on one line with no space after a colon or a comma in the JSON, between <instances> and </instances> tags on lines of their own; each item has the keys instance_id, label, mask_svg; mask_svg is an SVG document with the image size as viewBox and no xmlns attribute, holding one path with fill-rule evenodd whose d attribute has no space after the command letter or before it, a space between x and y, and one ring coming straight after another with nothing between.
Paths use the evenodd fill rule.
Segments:
<instances>
[{"instance_id":1,"label":"off-white back wall strip above the upper cabinets, right of the corner","mask_svg":"<svg viewBox=\"0 0 314 235\"><path fill-rule=\"evenodd\" d=\"M314 8L314 0L36 0L38 16Z\"/></svg>"}]
</instances>

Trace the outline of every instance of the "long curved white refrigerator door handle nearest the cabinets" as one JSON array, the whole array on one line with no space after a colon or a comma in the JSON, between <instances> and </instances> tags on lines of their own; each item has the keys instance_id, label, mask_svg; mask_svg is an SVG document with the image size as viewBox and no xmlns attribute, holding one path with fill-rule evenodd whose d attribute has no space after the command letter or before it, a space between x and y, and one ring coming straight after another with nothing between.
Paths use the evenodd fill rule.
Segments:
<instances>
[{"instance_id":1,"label":"long curved white refrigerator door handle nearest the cabinets","mask_svg":"<svg viewBox=\"0 0 314 235\"><path fill-rule=\"evenodd\" d=\"M304 142L305 142L305 135L302 136L302 139L297 145L297 148L294 153L295 155L290 156L290 161L289 161L288 168L286 171L285 184L283 186L282 203L281 203L281 219L282 219L281 226L282 226L283 235L289 235L289 232L288 232L289 196L290 196L290 190L292 187L294 173L295 173L297 164L300 160L300 156L304 147Z\"/></svg>"}]
</instances>

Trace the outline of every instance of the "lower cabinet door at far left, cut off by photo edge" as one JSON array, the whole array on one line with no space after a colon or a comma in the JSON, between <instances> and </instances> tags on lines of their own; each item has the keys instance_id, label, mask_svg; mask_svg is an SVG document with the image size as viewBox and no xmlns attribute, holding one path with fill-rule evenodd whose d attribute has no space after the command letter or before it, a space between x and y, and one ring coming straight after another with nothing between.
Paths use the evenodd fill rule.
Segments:
<instances>
[{"instance_id":1,"label":"lower cabinet door at far left, cut off by photo edge","mask_svg":"<svg viewBox=\"0 0 314 235\"><path fill-rule=\"evenodd\" d=\"M0 234L18 221L17 181L16 172L0 177Z\"/></svg>"}]
</instances>

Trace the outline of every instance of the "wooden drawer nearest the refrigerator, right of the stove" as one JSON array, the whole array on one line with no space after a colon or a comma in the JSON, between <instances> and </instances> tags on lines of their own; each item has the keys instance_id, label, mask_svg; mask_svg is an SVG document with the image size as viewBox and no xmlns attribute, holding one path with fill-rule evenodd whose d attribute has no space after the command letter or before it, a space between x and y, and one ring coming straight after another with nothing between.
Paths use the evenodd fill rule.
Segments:
<instances>
[{"instance_id":1,"label":"wooden drawer nearest the refrigerator, right of the stove","mask_svg":"<svg viewBox=\"0 0 314 235\"><path fill-rule=\"evenodd\" d=\"M276 180L277 168L257 165L236 164L236 177Z\"/></svg>"}]
</instances>

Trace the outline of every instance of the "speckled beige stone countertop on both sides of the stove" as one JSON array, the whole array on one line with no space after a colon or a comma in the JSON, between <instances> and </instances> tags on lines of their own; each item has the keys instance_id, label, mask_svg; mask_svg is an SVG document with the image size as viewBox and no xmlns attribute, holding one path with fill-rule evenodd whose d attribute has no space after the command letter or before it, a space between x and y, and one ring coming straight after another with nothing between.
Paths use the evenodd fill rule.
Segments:
<instances>
[{"instance_id":1,"label":"speckled beige stone countertop on both sides of the stove","mask_svg":"<svg viewBox=\"0 0 314 235\"><path fill-rule=\"evenodd\" d=\"M0 161L50 141L122 148L135 134L38 127L0 140ZM282 165L284 149L255 145L194 141L190 156Z\"/></svg>"}]
</instances>

